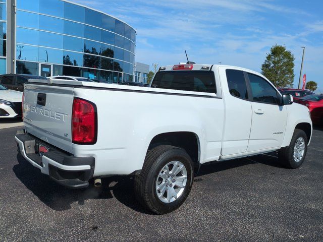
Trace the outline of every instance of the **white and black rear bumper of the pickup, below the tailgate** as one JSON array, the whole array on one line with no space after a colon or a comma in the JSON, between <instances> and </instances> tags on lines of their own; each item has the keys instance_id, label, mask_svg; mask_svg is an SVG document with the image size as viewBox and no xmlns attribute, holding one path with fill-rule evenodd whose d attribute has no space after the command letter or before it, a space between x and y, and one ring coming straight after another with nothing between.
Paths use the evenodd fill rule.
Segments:
<instances>
[{"instance_id":1,"label":"white and black rear bumper of the pickup, below the tailgate","mask_svg":"<svg viewBox=\"0 0 323 242\"><path fill-rule=\"evenodd\" d=\"M94 157L75 157L21 131L15 140L21 155L57 183L68 188L88 187L88 180L93 177ZM42 156L35 149L38 143L49 147Z\"/></svg>"}]
</instances>

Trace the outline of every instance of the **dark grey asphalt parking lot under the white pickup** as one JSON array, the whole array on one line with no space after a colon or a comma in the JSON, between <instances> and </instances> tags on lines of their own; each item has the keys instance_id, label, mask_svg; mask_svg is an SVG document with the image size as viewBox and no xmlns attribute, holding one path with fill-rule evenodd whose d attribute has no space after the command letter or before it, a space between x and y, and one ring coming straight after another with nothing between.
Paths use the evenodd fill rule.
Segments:
<instances>
[{"instance_id":1,"label":"dark grey asphalt parking lot under the white pickup","mask_svg":"<svg viewBox=\"0 0 323 242\"><path fill-rule=\"evenodd\" d=\"M57 185L17 154L17 129L0 130L0 241L323 240L323 128L301 168L275 154L205 165L182 207L159 216L136 202L129 177Z\"/></svg>"}]
</instances>

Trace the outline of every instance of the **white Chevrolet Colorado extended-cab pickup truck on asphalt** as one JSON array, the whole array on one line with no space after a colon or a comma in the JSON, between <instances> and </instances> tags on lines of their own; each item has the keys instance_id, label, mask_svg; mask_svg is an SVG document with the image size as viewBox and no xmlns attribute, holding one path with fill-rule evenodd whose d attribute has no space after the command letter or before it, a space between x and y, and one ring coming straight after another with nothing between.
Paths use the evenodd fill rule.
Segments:
<instances>
[{"instance_id":1,"label":"white Chevrolet Colorado extended-cab pickup truck on asphalt","mask_svg":"<svg viewBox=\"0 0 323 242\"><path fill-rule=\"evenodd\" d=\"M291 95L224 65L161 67L150 88L32 80L23 119L19 152L42 173L70 188L134 175L139 201L157 214L185 201L201 164L278 151L297 168L312 134Z\"/></svg>"}]
</instances>

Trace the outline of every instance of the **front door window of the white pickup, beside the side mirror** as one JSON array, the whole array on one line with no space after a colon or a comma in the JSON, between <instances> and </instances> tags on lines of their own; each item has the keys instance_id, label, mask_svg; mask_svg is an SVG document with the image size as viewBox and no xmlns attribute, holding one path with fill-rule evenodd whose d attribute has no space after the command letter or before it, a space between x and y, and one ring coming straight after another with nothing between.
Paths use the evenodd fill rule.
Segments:
<instances>
[{"instance_id":1,"label":"front door window of the white pickup, beside the side mirror","mask_svg":"<svg viewBox=\"0 0 323 242\"><path fill-rule=\"evenodd\" d=\"M275 88L263 78L248 73L254 101L278 104L278 94Z\"/></svg>"}]
</instances>

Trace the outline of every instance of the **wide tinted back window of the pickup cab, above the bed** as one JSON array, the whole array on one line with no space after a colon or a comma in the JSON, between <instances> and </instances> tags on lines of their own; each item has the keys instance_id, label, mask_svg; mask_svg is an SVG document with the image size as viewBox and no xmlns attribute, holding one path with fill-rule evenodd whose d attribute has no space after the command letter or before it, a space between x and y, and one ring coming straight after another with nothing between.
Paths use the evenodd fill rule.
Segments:
<instances>
[{"instance_id":1,"label":"wide tinted back window of the pickup cab, above the bed","mask_svg":"<svg viewBox=\"0 0 323 242\"><path fill-rule=\"evenodd\" d=\"M216 93L216 81L209 71L157 72L152 85L156 88Z\"/></svg>"}]
</instances>

